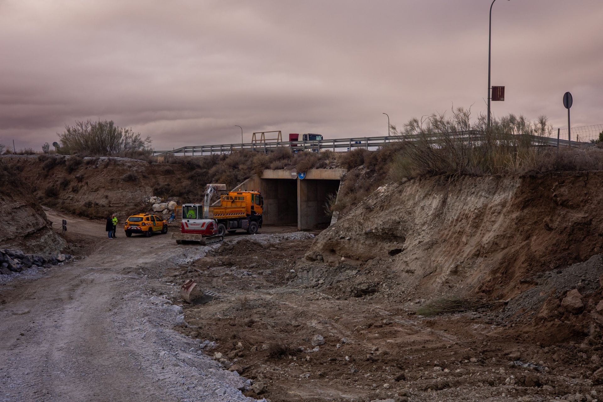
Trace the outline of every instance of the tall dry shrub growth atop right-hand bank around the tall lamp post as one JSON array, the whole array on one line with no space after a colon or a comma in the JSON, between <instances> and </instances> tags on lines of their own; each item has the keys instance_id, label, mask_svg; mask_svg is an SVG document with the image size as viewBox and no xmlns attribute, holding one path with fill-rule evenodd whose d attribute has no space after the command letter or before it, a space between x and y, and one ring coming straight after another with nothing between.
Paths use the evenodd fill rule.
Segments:
<instances>
[{"instance_id":1,"label":"tall dry shrub growth atop right-hand bank around the tall lamp post","mask_svg":"<svg viewBox=\"0 0 603 402\"><path fill-rule=\"evenodd\" d=\"M486 127L484 116L472 122L470 110L456 108L449 118L433 114L411 119L400 130L404 137L394 177L516 174L540 158L541 137L550 134L545 116L530 122L508 115Z\"/></svg>"}]
</instances>

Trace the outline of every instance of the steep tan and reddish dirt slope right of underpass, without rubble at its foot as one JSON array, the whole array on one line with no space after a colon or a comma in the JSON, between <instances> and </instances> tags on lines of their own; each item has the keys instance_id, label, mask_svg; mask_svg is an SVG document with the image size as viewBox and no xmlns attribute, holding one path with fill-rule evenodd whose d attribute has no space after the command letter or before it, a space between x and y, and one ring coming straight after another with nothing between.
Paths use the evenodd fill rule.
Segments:
<instances>
[{"instance_id":1,"label":"steep tan and reddish dirt slope right of underpass, without rubble at its foot","mask_svg":"<svg viewBox=\"0 0 603 402\"><path fill-rule=\"evenodd\" d=\"M408 295L506 299L537 272L601 253L602 184L603 172L389 184L321 233L307 257L385 263Z\"/></svg>"}]
</instances>

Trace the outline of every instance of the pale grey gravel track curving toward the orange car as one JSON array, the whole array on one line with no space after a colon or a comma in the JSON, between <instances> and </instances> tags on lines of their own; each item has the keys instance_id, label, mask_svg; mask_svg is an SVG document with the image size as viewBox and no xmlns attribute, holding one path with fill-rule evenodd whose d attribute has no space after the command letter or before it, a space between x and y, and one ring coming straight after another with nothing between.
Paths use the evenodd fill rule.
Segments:
<instances>
[{"instance_id":1,"label":"pale grey gravel track curving toward the orange car","mask_svg":"<svg viewBox=\"0 0 603 402\"><path fill-rule=\"evenodd\" d=\"M48 216L60 228L63 216ZM89 257L0 286L0 400L247 400L232 373L200 372L215 369L206 357L172 361L190 340L171 330L176 314L141 290L154 269L209 248L176 247L169 233L109 240L101 222L68 220L69 236L92 240ZM218 396L223 386L234 393Z\"/></svg>"}]
</instances>

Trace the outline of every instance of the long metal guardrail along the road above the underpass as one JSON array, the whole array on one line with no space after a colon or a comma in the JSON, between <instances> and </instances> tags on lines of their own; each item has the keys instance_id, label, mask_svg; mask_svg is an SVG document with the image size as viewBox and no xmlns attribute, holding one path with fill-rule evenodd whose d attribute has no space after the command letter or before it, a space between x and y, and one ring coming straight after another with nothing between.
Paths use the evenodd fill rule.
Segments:
<instances>
[{"instance_id":1,"label":"long metal guardrail along the road above the underpass","mask_svg":"<svg viewBox=\"0 0 603 402\"><path fill-rule=\"evenodd\" d=\"M463 138L467 142L480 142L485 139L482 131L464 131L456 134L457 137ZM282 142L263 142L263 143L239 143L239 144L219 144L219 145L195 145L182 146L180 148L171 149L169 151L153 151L154 157L174 154L176 156L204 156L213 154L229 154L236 151L257 151L257 152L273 152L278 148L290 148L292 151L315 151L320 152L326 149L331 151L351 151L356 148L377 149L381 146L390 143L400 142L402 140L418 140L421 136L383 136L383 137L353 137L353 138L333 138L314 141L282 141ZM434 134L430 139L434 143L441 139L439 134ZM534 145L550 145L557 146L557 138L533 136L532 142ZM589 146L593 144L559 140L560 146Z\"/></svg>"}]
</instances>

